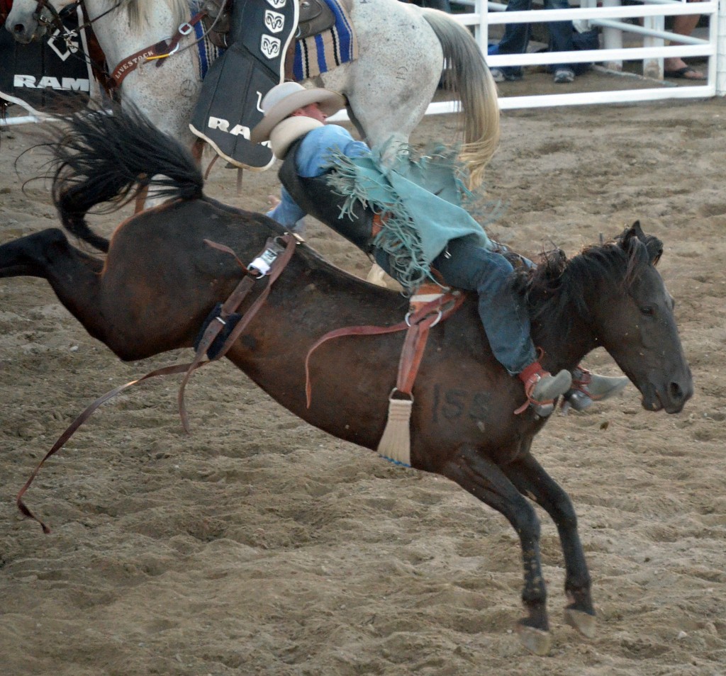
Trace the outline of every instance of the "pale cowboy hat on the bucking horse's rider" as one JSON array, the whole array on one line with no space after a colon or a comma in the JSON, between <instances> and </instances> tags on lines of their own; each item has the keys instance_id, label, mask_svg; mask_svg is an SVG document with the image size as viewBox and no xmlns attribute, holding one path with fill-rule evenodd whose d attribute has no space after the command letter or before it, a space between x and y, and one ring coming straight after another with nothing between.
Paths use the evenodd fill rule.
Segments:
<instances>
[{"instance_id":1,"label":"pale cowboy hat on the bucking horse's rider","mask_svg":"<svg viewBox=\"0 0 726 676\"><path fill-rule=\"evenodd\" d=\"M317 103L325 115L333 115L345 106L346 99L330 89L320 87L306 89L296 82L283 82L270 89L262 99L264 117L250 133L250 141L253 143L267 141L270 132L278 123L298 108L304 108L311 103Z\"/></svg>"}]
</instances>

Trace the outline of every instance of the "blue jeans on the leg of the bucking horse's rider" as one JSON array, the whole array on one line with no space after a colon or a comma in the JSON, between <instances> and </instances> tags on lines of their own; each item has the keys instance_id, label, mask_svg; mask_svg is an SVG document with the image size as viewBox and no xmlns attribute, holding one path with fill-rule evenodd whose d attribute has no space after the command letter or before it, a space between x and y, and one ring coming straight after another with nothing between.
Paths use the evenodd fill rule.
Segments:
<instances>
[{"instance_id":1,"label":"blue jeans on the leg of the bucking horse's rider","mask_svg":"<svg viewBox=\"0 0 726 676\"><path fill-rule=\"evenodd\" d=\"M377 250L375 258L381 268L390 269L386 254ZM461 237L452 239L431 267L441 273L446 284L477 292L479 316L492 353L511 375L537 360L529 335L529 313L512 290L514 268L504 256Z\"/></svg>"}]
</instances>

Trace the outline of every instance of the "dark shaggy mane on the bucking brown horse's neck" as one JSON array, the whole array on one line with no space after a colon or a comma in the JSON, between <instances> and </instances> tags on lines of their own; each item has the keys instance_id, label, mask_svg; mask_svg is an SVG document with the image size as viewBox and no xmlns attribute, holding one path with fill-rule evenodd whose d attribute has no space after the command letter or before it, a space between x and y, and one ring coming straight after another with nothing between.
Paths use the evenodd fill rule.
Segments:
<instances>
[{"instance_id":1,"label":"dark shaggy mane on the bucking brown horse's neck","mask_svg":"<svg viewBox=\"0 0 726 676\"><path fill-rule=\"evenodd\" d=\"M515 287L526 298L532 323L562 339L573 314L587 317L590 313L589 289L609 284L627 292L645 266L658 263L662 251L661 240L643 234L640 223L635 223L608 242L585 247L570 260L560 249L543 252L537 268L519 273Z\"/></svg>"}]
</instances>

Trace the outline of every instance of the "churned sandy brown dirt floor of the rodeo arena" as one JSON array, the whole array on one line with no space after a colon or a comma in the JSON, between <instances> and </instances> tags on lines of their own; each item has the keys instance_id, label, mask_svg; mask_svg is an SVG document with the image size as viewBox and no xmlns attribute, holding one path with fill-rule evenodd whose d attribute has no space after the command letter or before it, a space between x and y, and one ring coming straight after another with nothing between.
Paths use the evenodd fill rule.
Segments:
<instances>
[{"instance_id":1,"label":"churned sandy brown dirt floor of the rodeo arena","mask_svg":"<svg viewBox=\"0 0 726 676\"><path fill-rule=\"evenodd\" d=\"M544 77L544 76L543 76ZM427 118L414 136L453 138ZM56 224L23 180L40 157L2 131L0 242ZM228 363L105 405L28 493L17 490L97 395L187 353L119 362L35 279L0 281L0 673L3 676L726 674L726 107L720 99L506 112L489 231L537 255L574 255L639 218L665 243L661 273L696 394L648 413L629 387L554 416L537 456L574 500L594 581L597 637L562 621L563 559L542 513L553 648L526 654L518 538L441 477L398 469L282 410ZM264 210L274 172L215 165L208 192ZM109 233L118 215L94 220ZM343 268L367 260L321 226ZM618 373L608 355L588 365Z\"/></svg>"}]
</instances>

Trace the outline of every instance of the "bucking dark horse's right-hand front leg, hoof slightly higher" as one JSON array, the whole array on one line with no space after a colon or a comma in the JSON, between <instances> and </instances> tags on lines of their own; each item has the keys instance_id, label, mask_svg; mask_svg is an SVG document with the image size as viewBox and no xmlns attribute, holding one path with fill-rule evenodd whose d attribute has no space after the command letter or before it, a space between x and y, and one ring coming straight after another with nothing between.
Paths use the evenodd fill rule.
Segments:
<instances>
[{"instance_id":1,"label":"bucking dark horse's right-hand front leg, hoof slightly higher","mask_svg":"<svg viewBox=\"0 0 726 676\"><path fill-rule=\"evenodd\" d=\"M535 500L555 522L565 556L565 592L570 601L565 609L565 621L587 638L594 638L595 609L590 597L592 583L570 498L529 454L508 464L503 471L523 495Z\"/></svg>"}]
</instances>

